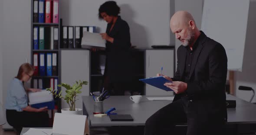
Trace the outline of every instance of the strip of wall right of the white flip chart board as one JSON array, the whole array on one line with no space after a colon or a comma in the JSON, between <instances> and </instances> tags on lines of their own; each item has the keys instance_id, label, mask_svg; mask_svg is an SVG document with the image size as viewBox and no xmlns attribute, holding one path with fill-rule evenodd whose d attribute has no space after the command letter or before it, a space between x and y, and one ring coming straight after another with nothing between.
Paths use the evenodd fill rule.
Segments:
<instances>
[{"instance_id":1,"label":"strip of wall right of the white flip chart board","mask_svg":"<svg viewBox=\"0 0 256 135\"><path fill-rule=\"evenodd\" d=\"M236 96L243 100L249 101L252 96L251 91L238 90L240 85L252 87L256 90L256 45L255 45L255 31L256 31L256 0L250 0L249 15L246 31L246 42L243 55L243 69L242 72L235 72L235 92ZM252 102L256 102L256 98Z\"/></svg>"}]
</instances>

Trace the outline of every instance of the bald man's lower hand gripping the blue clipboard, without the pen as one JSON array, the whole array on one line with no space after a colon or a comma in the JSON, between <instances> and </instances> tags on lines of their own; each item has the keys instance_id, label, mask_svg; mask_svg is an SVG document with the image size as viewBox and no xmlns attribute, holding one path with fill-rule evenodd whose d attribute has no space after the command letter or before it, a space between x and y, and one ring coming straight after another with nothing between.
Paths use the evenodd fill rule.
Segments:
<instances>
[{"instance_id":1,"label":"bald man's lower hand gripping the blue clipboard, without the pen","mask_svg":"<svg viewBox=\"0 0 256 135\"><path fill-rule=\"evenodd\" d=\"M171 88L176 94L184 93L187 90L187 83L184 83L182 81L165 83L164 86Z\"/></svg>"}]
</instances>

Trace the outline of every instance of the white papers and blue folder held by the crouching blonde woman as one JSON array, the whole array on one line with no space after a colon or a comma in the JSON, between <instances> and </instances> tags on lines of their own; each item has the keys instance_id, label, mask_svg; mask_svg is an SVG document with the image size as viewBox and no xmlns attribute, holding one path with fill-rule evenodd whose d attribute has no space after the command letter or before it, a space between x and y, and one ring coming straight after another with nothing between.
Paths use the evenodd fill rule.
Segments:
<instances>
[{"instance_id":1,"label":"white papers and blue folder held by the crouching blonde woman","mask_svg":"<svg viewBox=\"0 0 256 135\"><path fill-rule=\"evenodd\" d=\"M39 92L30 92L29 105L34 108L41 108L47 106L48 109L54 109L53 95L46 90L41 90Z\"/></svg>"}]
</instances>

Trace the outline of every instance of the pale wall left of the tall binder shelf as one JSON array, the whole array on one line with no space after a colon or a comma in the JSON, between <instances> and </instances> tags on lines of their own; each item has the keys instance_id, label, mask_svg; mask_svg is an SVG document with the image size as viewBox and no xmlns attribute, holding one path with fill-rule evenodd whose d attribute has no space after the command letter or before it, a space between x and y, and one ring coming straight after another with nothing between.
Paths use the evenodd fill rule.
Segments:
<instances>
[{"instance_id":1,"label":"pale wall left of the tall binder shelf","mask_svg":"<svg viewBox=\"0 0 256 135\"><path fill-rule=\"evenodd\" d=\"M26 58L30 62L31 1L1 0L1 2L3 6L1 7L3 11L1 18L3 88L1 90L5 101L10 80L16 76L18 68L26 62Z\"/></svg>"}]
</instances>

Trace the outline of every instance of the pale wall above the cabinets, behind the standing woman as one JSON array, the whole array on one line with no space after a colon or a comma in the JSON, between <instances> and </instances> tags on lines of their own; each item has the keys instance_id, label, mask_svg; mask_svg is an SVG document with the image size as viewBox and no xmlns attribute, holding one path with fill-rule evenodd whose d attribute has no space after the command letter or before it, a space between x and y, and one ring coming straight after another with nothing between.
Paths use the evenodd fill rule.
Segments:
<instances>
[{"instance_id":1,"label":"pale wall above the cabinets, behind the standing woman","mask_svg":"<svg viewBox=\"0 0 256 135\"><path fill-rule=\"evenodd\" d=\"M98 8L105 1L62 0L60 17L63 19L63 25L97 26L97 32L105 32L107 23L98 19ZM170 39L169 28L170 12L174 13L174 0L115 1L121 8L122 19L130 26L132 45L138 48L174 45L174 39Z\"/></svg>"}]
</instances>

